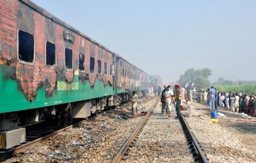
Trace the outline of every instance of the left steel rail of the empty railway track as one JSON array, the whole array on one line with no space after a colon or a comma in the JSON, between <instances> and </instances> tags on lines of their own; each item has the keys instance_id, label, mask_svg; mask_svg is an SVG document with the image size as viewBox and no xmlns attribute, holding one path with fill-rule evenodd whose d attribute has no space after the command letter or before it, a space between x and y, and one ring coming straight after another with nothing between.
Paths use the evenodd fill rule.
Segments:
<instances>
[{"instance_id":1,"label":"left steel rail of the empty railway track","mask_svg":"<svg viewBox=\"0 0 256 163\"><path fill-rule=\"evenodd\" d=\"M156 105L159 102L159 98L157 98L156 102L152 105L151 109L148 111L148 113L144 116L144 118L140 121L138 126L134 129L132 134L127 138L125 143L122 145L122 147L116 152L115 156L111 160L110 163L117 163L120 162L120 160L124 157L124 154L128 150L129 146L131 145L132 141L134 141L135 137L137 136L138 132L140 131L141 127L145 124L145 122L150 117L151 113L155 109Z\"/></svg>"}]
</instances>

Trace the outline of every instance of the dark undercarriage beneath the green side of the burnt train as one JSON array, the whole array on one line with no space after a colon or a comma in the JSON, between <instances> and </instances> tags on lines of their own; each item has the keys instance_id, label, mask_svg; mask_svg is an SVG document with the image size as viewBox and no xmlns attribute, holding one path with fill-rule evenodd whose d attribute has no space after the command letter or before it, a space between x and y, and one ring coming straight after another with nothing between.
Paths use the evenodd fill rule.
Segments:
<instances>
[{"instance_id":1,"label":"dark undercarriage beneath the green side of the burnt train","mask_svg":"<svg viewBox=\"0 0 256 163\"><path fill-rule=\"evenodd\" d=\"M65 127L72 125L73 120L76 118L88 118L92 114L97 114L123 102L128 102L130 98L131 93L120 93L51 107L2 113L0 114L0 148L10 148L26 141L25 127L28 125L55 119L58 125Z\"/></svg>"}]
</instances>

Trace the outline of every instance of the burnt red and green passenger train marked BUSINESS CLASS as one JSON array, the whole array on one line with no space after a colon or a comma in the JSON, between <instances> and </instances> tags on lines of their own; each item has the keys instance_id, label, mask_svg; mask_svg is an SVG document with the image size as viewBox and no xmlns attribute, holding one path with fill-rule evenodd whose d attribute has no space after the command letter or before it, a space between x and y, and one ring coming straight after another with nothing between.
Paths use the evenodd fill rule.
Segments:
<instances>
[{"instance_id":1,"label":"burnt red and green passenger train marked BUSINESS CLASS","mask_svg":"<svg viewBox=\"0 0 256 163\"><path fill-rule=\"evenodd\" d=\"M150 75L29 0L0 0L0 131L147 93Z\"/></svg>"}]
</instances>

